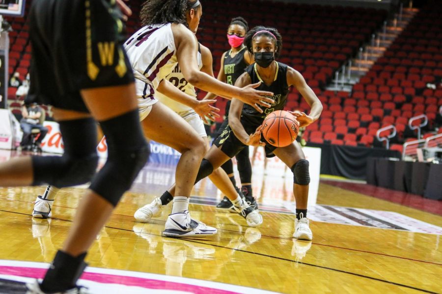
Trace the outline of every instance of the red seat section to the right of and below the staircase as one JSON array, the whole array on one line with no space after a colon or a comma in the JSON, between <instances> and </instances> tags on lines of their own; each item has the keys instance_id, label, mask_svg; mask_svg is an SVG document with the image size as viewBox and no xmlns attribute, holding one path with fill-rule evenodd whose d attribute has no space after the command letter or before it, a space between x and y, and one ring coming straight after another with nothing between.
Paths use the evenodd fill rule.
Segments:
<instances>
[{"instance_id":1,"label":"red seat section to the right of and below the staircase","mask_svg":"<svg viewBox=\"0 0 442 294\"><path fill-rule=\"evenodd\" d=\"M413 137L407 138L405 131L409 119L420 114L427 115L429 120L426 127L429 135L424 137L434 135L435 119L442 105L441 14L440 5L430 3L421 9L384 56L354 86L351 95L330 91L318 95L324 104L324 112L319 122L308 127L304 139L314 143L329 141L340 144L330 141L330 135L324 131L328 129L338 134L338 127L334 125L331 130L324 126L331 125L328 118L334 121L337 117L342 119L342 112L347 115L348 132L357 135L358 145L372 146L377 129L390 124L397 128L398 143L407 139L416 140L415 133L409 133ZM437 88L427 88L427 83L435 84ZM292 98L288 105L303 111L308 109L304 102L297 104L293 101L297 95ZM342 127L339 127L339 131L342 131ZM354 141L344 139L344 144L351 145ZM402 144L393 144L391 149L402 151Z\"/></svg>"}]
</instances>

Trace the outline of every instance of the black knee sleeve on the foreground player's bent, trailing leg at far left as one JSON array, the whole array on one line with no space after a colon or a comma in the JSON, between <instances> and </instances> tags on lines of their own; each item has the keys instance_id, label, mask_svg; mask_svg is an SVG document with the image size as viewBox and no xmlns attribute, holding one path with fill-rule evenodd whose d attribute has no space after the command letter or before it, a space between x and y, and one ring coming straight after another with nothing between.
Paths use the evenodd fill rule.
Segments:
<instances>
[{"instance_id":1,"label":"black knee sleeve on the foreground player's bent, trailing leg at far left","mask_svg":"<svg viewBox=\"0 0 442 294\"><path fill-rule=\"evenodd\" d=\"M63 156L33 156L33 183L57 188L84 184L94 175L97 164L97 129L92 118L62 121Z\"/></svg>"}]
</instances>

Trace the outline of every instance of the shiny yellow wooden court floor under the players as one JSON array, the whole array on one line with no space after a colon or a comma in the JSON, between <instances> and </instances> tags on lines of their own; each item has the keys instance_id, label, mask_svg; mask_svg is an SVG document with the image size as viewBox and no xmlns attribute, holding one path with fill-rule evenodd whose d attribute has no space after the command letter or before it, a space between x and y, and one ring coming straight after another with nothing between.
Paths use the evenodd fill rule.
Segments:
<instances>
[{"instance_id":1,"label":"shiny yellow wooden court floor under the players","mask_svg":"<svg viewBox=\"0 0 442 294\"><path fill-rule=\"evenodd\" d=\"M161 237L167 213L146 224L132 216L161 195L170 180L173 170L146 176L124 196L87 256L90 266L280 293L442 293L442 240L436 234L311 221L313 241L295 241L293 214L262 212L263 225L251 228L236 214L191 204L192 217L217 227L219 234L207 239ZM262 185L270 184L264 177ZM203 181L194 199L215 198L211 185ZM54 218L33 220L32 201L44 189L0 188L0 259L52 261L84 188L63 189L55 200ZM259 196L260 202L278 198ZM441 216L330 184L320 184L317 202L391 211L442 227Z\"/></svg>"}]
</instances>

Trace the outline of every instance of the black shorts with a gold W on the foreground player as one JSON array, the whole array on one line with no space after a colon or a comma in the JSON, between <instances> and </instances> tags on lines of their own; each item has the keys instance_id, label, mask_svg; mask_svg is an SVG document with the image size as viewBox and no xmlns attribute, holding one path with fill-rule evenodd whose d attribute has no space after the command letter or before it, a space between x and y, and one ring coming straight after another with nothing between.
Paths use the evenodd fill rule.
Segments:
<instances>
[{"instance_id":1,"label":"black shorts with a gold W on the foreground player","mask_svg":"<svg viewBox=\"0 0 442 294\"><path fill-rule=\"evenodd\" d=\"M33 0L29 23L33 101L88 112L80 90L134 82L110 0Z\"/></svg>"}]
</instances>

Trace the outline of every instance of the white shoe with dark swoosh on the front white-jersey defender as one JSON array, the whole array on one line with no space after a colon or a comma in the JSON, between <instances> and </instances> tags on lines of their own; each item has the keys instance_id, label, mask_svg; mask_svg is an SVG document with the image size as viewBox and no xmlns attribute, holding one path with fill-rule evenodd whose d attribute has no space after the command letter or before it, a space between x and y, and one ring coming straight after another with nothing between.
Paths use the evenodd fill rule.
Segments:
<instances>
[{"instance_id":1,"label":"white shoe with dark swoosh on the front white-jersey defender","mask_svg":"<svg viewBox=\"0 0 442 294\"><path fill-rule=\"evenodd\" d=\"M217 234L216 228L191 219L189 211L170 214L167 218L163 236L166 237L205 237Z\"/></svg>"}]
</instances>

